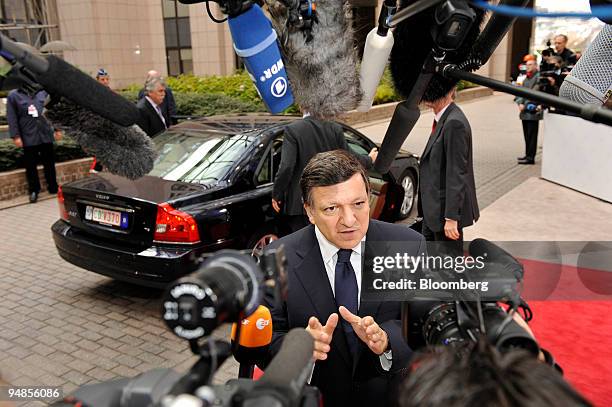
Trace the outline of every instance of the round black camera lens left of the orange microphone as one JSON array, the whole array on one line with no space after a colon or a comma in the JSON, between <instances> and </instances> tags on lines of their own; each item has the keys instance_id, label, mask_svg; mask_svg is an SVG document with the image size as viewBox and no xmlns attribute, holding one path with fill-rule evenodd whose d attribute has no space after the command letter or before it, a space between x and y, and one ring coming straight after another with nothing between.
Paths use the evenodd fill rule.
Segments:
<instances>
[{"instance_id":1,"label":"round black camera lens left of the orange microphone","mask_svg":"<svg viewBox=\"0 0 612 407\"><path fill-rule=\"evenodd\" d=\"M257 309L261 282L262 273L253 258L220 251L166 289L163 319L183 339L208 336L219 325L237 322Z\"/></svg>"}]
</instances>

